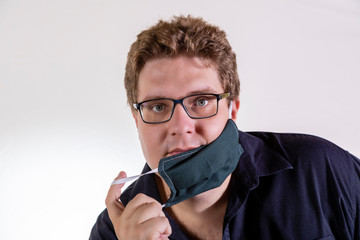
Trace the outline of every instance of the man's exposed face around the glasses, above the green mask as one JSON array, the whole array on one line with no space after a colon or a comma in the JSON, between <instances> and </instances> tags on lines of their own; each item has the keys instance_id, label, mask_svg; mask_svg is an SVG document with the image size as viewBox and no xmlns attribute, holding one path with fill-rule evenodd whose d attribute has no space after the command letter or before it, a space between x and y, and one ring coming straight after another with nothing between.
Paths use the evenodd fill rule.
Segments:
<instances>
[{"instance_id":1,"label":"man's exposed face around the glasses, above the green mask","mask_svg":"<svg viewBox=\"0 0 360 240\"><path fill-rule=\"evenodd\" d=\"M199 58L179 56L148 61L139 75L138 102L155 98L181 99L191 94L216 93L224 90L218 73ZM233 107L236 118L238 101ZM145 159L154 169L161 158L175 155L214 141L229 118L227 101L219 101L217 115L205 119L190 118L177 104L170 121L144 123L140 113L134 113Z\"/></svg>"}]
</instances>

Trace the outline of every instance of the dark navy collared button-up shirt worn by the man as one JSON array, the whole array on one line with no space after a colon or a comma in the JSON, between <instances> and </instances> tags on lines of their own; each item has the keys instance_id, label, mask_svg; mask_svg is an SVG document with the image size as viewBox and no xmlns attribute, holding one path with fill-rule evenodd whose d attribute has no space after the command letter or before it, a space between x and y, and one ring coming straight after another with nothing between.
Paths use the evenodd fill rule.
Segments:
<instances>
[{"instance_id":1,"label":"dark navy collared button-up shirt worn by the man","mask_svg":"<svg viewBox=\"0 0 360 240\"><path fill-rule=\"evenodd\" d=\"M358 158L309 135L240 131L239 142L245 152L230 181L223 239L360 240ZM126 205L138 193L161 202L154 175L130 185L121 200ZM164 212L170 239L190 239ZM90 239L117 239L106 209Z\"/></svg>"}]
</instances>

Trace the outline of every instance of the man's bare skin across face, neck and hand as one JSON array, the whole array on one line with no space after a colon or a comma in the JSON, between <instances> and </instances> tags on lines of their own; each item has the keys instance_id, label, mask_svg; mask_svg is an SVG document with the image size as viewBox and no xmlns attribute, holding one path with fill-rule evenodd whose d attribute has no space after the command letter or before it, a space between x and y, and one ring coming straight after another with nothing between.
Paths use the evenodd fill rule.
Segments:
<instances>
[{"instance_id":1,"label":"man's bare skin across face, neck and hand","mask_svg":"<svg viewBox=\"0 0 360 240\"><path fill-rule=\"evenodd\" d=\"M159 97L180 99L195 93L224 92L215 68L200 58L186 56L148 61L140 72L138 91L138 102ZM230 113L234 121L238 109L239 99L236 99L233 101ZM161 124L144 123L137 111L133 112L133 117L143 154L148 165L153 169L158 167L163 157L214 141L229 119L229 108L227 100L220 100L217 115L206 119L191 119L178 104L171 120ZM125 176L126 174L121 172L116 179ZM176 204L166 211L194 239L221 237L223 216L227 206L226 189L230 177L220 187ZM160 176L157 183L165 201L170 196L170 190ZM113 185L106 198L109 216L117 237L168 239L171 227L161 204L139 194L125 208L117 200L121 195L121 188L122 185ZM208 230L204 231L204 226L208 226Z\"/></svg>"}]
</instances>

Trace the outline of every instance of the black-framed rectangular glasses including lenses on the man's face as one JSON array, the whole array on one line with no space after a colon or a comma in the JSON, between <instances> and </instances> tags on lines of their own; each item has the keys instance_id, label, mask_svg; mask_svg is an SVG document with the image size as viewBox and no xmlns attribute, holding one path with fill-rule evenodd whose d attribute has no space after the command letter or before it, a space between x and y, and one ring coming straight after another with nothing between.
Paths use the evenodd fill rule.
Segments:
<instances>
[{"instance_id":1,"label":"black-framed rectangular glasses including lenses on the man's face","mask_svg":"<svg viewBox=\"0 0 360 240\"><path fill-rule=\"evenodd\" d=\"M133 107L140 111L145 123L163 123L171 119L176 104L180 103L187 115L193 119L203 119L215 116L218 112L219 101L227 98L230 93L223 94L194 94L179 100L157 98L134 103Z\"/></svg>"}]
</instances>

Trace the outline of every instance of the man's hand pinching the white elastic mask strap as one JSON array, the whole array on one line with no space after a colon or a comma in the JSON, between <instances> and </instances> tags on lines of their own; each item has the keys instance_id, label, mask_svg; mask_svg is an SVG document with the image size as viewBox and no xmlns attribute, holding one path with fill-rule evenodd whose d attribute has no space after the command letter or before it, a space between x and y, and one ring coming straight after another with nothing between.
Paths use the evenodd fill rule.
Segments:
<instances>
[{"instance_id":1,"label":"man's hand pinching the white elastic mask strap","mask_svg":"<svg viewBox=\"0 0 360 240\"><path fill-rule=\"evenodd\" d=\"M115 180L125 177L126 173L120 172ZM105 200L117 238L119 240L169 239L171 227L161 204L140 193L124 207L119 201L123 186L124 184L112 185Z\"/></svg>"}]
</instances>

